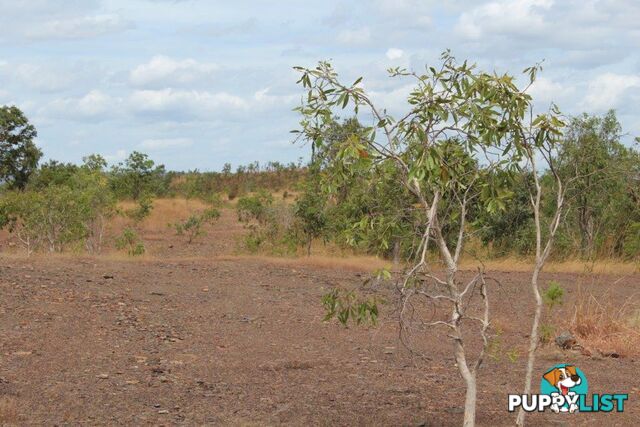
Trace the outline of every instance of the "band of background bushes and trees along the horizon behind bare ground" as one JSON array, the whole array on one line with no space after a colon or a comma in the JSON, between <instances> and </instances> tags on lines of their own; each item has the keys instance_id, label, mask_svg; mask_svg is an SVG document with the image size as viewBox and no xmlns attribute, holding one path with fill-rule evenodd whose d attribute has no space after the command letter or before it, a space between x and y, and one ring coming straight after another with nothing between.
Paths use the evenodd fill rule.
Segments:
<instances>
[{"instance_id":1,"label":"band of background bushes and trees along the horizon behind bare ground","mask_svg":"<svg viewBox=\"0 0 640 427\"><path fill-rule=\"evenodd\" d=\"M397 172L384 161L363 169L342 168L335 161L338 147L361 137L363 129L355 118L336 118L322 146L312 144L305 165L255 162L235 170L225 164L220 172L175 172L139 152L110 167L99 155L85 157L82 165L41 163L35 128L19 109L1 107L0 226L29 253L99 252L109 219L126 215L133 223L140 221L152 209L153 198L199 198L212 205L237 199L249 250L311 252L312 242L323 241L403 259L419 242L413 226L421 214L415 196L396 184L392 175ZM640 153L622 144L622 135L614 111L569 120L555 162L566 183L567 206L553 258L640 256ZM466 167L482 165L470 158ZM535 229L527 191L533 183L526 170L517 173L508 180L510 187L493 198L491 209L469 207L467 231L475 244L467 250L478 251L472 255L533 253ZM338 188L326 188L329 182ZM542 185L548 186L543 214L550 216L555 203L552 177L544 176ZM284 197L274 196L276 192ZM288 197L291 193L295 196ZM123 212L119 200L133 200L137 207ZM455 209L455 203L444 203L442 209ZM453 239L458 230L445 232Z\"/></svg>"}]
</instances>

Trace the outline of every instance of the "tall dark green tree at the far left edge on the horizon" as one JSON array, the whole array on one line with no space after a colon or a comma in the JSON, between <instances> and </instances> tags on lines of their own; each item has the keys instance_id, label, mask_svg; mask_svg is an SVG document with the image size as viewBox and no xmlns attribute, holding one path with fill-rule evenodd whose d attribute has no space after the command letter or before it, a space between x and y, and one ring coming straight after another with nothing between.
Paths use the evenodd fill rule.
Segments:
<instances>
[{"instance_id":1,"label":"tall dark green tree at the far left edge on the horizon","mask_svg":"<svg viewBox=\"0 0 640 427\"><path fill-rule=\"evenodd\" d=\"M38 166L42 152L33 139L36 128L18 107L0 107L0 182L22 190Z\"/></svg>"}]
</instances>

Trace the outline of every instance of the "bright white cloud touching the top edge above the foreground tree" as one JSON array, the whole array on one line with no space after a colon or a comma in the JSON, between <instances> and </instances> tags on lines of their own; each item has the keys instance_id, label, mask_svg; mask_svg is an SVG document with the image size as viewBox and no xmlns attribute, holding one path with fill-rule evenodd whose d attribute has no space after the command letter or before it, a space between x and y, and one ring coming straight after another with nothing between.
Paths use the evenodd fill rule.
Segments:
<instances>
[{"instance_id":1,"label":"bright white cloud touching the top edge above the foreground tree","mask_svg":"<svg viewBox=\"0 0 640 427\"><path fill-rule=\"evenodd\" d=\"M457 33L477 40L490 34L531 34L540 31L544 17L539 13L553 6L553 0L498 0L463 12L455 26Z\"/></svg>"}]
</instances>

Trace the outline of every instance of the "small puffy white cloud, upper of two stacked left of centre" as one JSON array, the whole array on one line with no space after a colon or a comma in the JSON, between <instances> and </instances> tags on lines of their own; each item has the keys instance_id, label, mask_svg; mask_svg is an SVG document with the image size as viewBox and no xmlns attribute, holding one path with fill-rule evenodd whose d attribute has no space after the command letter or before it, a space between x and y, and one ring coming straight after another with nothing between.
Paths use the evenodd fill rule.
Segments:
<instances>
[{"instance_id":1,"label":"small puffy white cloud, upper of two stacked left of centre","mask_svg":"<svg viewBox=\"0 0 640 427\"><path fill-rule=\"evenodd\" d=\"M218 68L216 64L193 59L175 60L158 55L134 68L129 80L136 86L189 84L211 77Z\"/></svg>"}]
</instances>

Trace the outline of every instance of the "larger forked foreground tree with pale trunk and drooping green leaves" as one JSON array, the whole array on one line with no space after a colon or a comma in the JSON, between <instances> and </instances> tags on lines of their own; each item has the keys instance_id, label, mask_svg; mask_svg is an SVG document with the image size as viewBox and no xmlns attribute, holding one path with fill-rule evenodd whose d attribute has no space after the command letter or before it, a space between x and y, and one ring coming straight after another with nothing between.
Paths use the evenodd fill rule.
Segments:
<instances>
[{"instance_id":1,"label":"larger forked foreground tree with pale trunk and drooping green leaves","mask_svg":"<svg viewBox=\"0 0 640 427\"><path fill-rule=\"evenodd\" d=\"M297 131L300 136L311 141L316 150L325 149L333 117L341 109L353 109L363 120L370 120L371 126L365 127L362 135L331 142L335 144L331 151L337 153L332 161L345 173L375 169L372 180L393 176L395 185L406 189L412 198L416 209L413 228L419 243L404 271L396 276L401 336L410 345L408 338L416 331L447 331L466 386L464 425L474 425L476 377L489 343L490 307L483 266L478 266L471 280L465 281L459 274L469 237L469 206L474 203L492 212L505 205L510 196L509 177L521 162L540 147L555 144L562 124L558 112L550 110L534 118L532 98L526 88L518 88L513 76L482 72L466 61L460 64L448 51L437 68L389 70L391 77L409 79L414 85L407 111L398 119L374 103L362 78L343 83L328 62L295 69L306 92L297 108L302 116ZM537 71L538 67L525 70L530 84ZM380 164L391 167L378 167ZM325 178L324 188L331 193L341 175L327 174ZM364 215L360 226L368 227L371 221ZM429 256L432 250L441 264ZM389 276L389 272L384 274ZM346 297L346 303L337 301L338 293L325 299L329 316L359 322L377 315L370 300L358 304L353 303L352 294ZM417 300L445 307L448 314L416 323L412 307ZM472 304L472 300L481 304ZM482 343L475 351L465 341L471 333Z\"/></svg>"}]
</instances>

